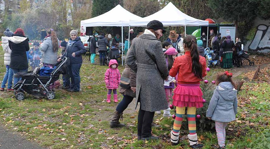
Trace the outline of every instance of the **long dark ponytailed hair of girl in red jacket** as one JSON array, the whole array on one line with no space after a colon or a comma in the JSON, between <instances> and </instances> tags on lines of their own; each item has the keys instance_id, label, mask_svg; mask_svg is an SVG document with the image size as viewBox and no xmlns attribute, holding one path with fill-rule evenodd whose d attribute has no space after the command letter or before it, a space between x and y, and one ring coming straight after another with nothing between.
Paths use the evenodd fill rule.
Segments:
<instances>
[{"instance_id":1,"label":"long dark ponytailed hair of girl in red jacket","mask_svg":"<svg viewBox=\"0 0 270 149\"><path fill-rule=\"evenodd\" d=\"M185 46L187 46L188 49L190 49L190 55L192 59L192 72L200 79L203 79L203 66L200 63L200 55L197 50L197 40L195 36L188 35L184 37L183 43Z\"/></svg>"}]
</instances>

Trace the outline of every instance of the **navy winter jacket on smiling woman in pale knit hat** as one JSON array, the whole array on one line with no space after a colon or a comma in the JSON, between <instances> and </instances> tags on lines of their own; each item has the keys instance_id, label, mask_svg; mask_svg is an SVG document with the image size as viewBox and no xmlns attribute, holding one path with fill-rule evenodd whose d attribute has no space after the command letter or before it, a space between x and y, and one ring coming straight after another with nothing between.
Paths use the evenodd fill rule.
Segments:
<instances>
[{"instance_id":1,"label":"navy winter jacket on smiling woman in pale knit hat","mask_svg":"<svg viewBox=\"0 0 270 149\"><path fill-rule=\"evenodd\" d=\"M67 57L70 58L70 64L82 63L82 54L85 54L86 52L87 50L85 49L80 37L77 37L74 42L69 38L66 53ZM62 59L66 56L66 53L61 57ZM72 53L75 53L76 56L73 57Z\"/></svg>"}]
</instances>

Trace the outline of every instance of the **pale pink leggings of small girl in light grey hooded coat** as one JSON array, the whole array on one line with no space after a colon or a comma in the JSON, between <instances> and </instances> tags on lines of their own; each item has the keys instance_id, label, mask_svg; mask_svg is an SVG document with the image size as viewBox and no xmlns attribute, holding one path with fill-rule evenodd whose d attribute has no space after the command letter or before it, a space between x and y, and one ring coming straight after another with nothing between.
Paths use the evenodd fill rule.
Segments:
<instances>
[{"instance_id":1,"label":"pale pink leggings of small girl in light grey hooded coat","mask_svg":"<svg viewBox=\"0 0 270 149\"><path fill-rule=\"evenodd\" d=\"M225 146L225 137L226 137L225 127L227 126L227 124L228 122L215 121L218 143L220 147Z\"/></svg>"}]
</instances>

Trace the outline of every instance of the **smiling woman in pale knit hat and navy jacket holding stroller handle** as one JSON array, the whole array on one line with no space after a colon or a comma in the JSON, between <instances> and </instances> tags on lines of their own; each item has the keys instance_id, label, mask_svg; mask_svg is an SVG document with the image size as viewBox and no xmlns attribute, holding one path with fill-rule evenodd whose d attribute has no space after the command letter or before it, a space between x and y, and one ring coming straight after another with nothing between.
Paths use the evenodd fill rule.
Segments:
<instances>
[{"instance_id":1,"label":"smiling woman in pale knit hat and navy jacket holding stroller handle","mask_svg":"<svg viewBox=\"0 0 270 149\"><path fill-rule=\"evenodd\" d=\"M61 61L64 56L70 59L70 65L68 66L68 72L71 78L71 86L68 91L79 92L80 91L80 69L82 66L82 54L87 51L81 41L81 38L77 36L76 30L70 31L70 38L67 44L66 54L64 54L58 61Z\"/></svg>"}]
</instances>

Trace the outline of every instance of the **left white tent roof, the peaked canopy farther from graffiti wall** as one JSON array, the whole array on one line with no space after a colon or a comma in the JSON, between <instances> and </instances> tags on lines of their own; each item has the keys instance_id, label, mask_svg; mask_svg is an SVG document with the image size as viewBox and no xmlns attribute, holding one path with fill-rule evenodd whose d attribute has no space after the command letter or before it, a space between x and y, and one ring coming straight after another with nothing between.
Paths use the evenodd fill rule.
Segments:
<instances>
[{"instance_id":1,"label":"left white tent roof, the peaked canopy farther from graffiti wall","mask_svg":"<svg viewBox=\"0 0 270 149\"><path fill-rule=\"evenodd\" d=\"M120 14L115 16L115 14ZM124 9L121 5L117 5L112 10L96 16L91 19L82 20L81 26L93 27L93 26L129 26L129 20L138 20L142 17L136 16Z\"/></svg>"}]
</instances>

